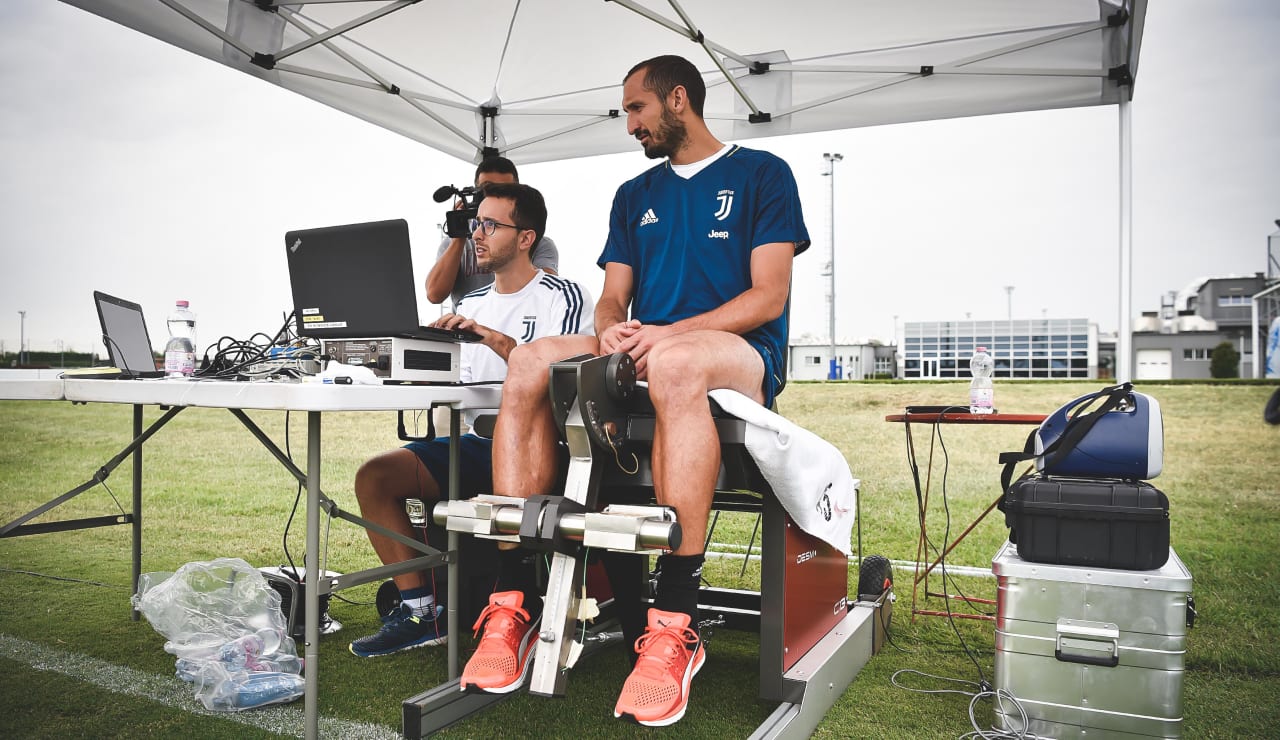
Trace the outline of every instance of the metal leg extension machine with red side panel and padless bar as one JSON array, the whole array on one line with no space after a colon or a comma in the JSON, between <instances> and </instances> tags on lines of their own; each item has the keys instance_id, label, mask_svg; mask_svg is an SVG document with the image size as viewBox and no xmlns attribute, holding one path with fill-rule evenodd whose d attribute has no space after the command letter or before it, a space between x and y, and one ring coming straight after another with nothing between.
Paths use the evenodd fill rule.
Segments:
<instances>
[{"instance_id":1,"label":"metal leg extension machine with red side panel and padless bar","mask_svg":"<svg viewBox=\"0 0 1280 740\"><path fill-rule=\"evenodd\" d=\"M585 548L658 554L678 547L682 533L672 510L636 503L653 499L648 463L654 417L631 358L584 356L554 364L550 399L570 452L564 494L439 502L433 519L454 531L553 553L529 690L559 696L564 668L582 652L579 621L596 612L580 586ZM808 737L879 649L891 591L849 598L847 558L795 526L742 444L745 424L714 402L712 407L722 448L713 507L762 512L762 585L760 593L704 588L699 611L713 623L760 635L760 698L778 708L753 737ZM643 577L641 568L635 577ZM643 625L643 604L622 603L627 597L614 590L614 608L640 615ZM434 732L497 699L462 700L457 681L445 684L404 702L404 735Z\"/></svg>"}]
</instances>

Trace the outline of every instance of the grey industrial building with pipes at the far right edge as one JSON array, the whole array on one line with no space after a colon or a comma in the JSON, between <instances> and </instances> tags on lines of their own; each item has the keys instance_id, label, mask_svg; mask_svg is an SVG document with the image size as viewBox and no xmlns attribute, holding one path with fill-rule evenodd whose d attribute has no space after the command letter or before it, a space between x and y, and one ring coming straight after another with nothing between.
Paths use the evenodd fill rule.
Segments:
<instances>
[{"instance_id":1,"label":"grey industrial building with pipes at the far right edge","mask_svg":"<svg viewBox=\"0 0 1280 740\"><path fill-rule=\"evenodd\" d=\"M1134 380L1211 378L1213 348L1231 343L1240 353L1240 376L1252 375L1252 298L1266 288L1262 273L1251 277L1206 278L1161 301L1160 311L1144 311L1133 324ZM1263 316L1258 346L1270 321Z\"/></svg>"}]
</instances>

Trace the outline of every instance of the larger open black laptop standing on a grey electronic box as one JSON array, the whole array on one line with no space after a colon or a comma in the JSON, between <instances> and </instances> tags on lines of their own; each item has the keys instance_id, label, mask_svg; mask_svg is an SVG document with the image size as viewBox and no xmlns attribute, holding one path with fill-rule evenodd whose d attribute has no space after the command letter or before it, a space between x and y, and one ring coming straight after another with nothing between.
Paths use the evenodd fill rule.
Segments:
<instances>
[{"instance_id":1,"label":"larger open black laptop standing on a grey electronic box","mask_svg":"<svg viewBox=\"0 0 1280 740\"><path fill-rule=\"evenodd\" d=\"M300 337L411 337L475 342L479 334L421 326L403 219L284 234Z\"/></svg>"}]
</instances>

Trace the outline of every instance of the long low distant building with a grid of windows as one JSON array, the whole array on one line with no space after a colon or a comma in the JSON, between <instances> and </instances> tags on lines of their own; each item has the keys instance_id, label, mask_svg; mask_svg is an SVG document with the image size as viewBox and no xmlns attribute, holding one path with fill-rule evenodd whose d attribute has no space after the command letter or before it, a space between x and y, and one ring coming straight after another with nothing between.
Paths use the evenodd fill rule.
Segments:
<instances>
[{"instance_id":1,"label":"long low distant building with a grid of windows","mask_svg":"<svg viewBox=\"0 0 1280 740\"><path fill-rule=\"evenodd\" d=\"M996 378L1097 378L1098 328L1087 319L905 321L899 376L969 378L969 357L986 347Z\"/></svg>"}]
</instances>

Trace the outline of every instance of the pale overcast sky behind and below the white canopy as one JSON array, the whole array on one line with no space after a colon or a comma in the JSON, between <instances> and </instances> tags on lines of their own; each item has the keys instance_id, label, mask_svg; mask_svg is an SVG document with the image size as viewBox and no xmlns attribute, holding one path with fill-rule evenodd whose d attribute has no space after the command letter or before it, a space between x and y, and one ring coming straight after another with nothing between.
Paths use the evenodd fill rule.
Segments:
<instances>
[{"instance_id":1,"label":"pale overcast sky behind and below the white canopy","mask_svg":"<svg viewBox=\"0 0 1280 740\"><path fill-rule=\"evenodd\" d=\"M1133 311L1199 278L1266 271L1280 219L1280 3L1152 3L1133 122ZM813 247L792 341L891 341L904 321L1120 324L1116 106L753 140L792 168ZM625 137L622 124L618 136ZM838 152L835 178L823 152ZM636 151L521 166L561 274L595 296ZM0 3L0 344L100 351L92 292L178 298L198 344L274 334L287 230L403 218L419 284L474 165L50 0ZM832 195L835 202L832 204ZM835 216L832 220L832 215ZM1011 286L1010 293L1006 287ZM424 320L436 306L420 297ZM19 318L26 311L26 320Z\"/></svg>"}]
</instances>

